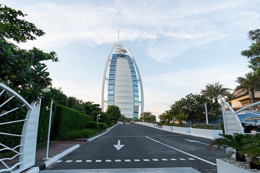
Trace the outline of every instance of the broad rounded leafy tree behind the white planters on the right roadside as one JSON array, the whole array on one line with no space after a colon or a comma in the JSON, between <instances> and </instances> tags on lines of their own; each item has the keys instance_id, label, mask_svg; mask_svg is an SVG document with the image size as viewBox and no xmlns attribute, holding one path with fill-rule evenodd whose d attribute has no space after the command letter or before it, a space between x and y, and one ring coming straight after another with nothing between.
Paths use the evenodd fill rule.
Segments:
<instances>
[{"instance_id":1,"label":"broad rounded leafy tree behind the white planters on the right roadside","mask_svg":"<svg viewBox=\"0 0 260 173\"><path fill-rule=\"evenodd\" d=\"M190 123L190 125L193 126L194 123L205 123L205 103L207 103L208 118L217 119L221 114L220 104L213 103L204 95L192 93L188 94L185 98L181 98L181 100L175 102L170 107L172 112L178 112L178 114L183 113L187 115L185 120L187 123ZM177 106L175 106L175 104L177 104Z\"/></svg>"}]
</instances>

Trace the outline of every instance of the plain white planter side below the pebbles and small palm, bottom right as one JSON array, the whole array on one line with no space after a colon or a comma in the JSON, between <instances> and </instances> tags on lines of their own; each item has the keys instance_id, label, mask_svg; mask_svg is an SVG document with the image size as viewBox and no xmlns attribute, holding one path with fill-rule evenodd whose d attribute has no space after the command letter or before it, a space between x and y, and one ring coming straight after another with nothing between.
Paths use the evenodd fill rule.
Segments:
<instances>
[{"instance_id":1,"label":"plain white planter side below the pebbles and small palm, bottom right","mask_svg":"<svg viewBox=\"0 0 260 173\"><path fill-rule=\"evenodd\" d=\"M218 173L230 173L230 172L247 173L247 172L250 172L250 171L247 171L240 167L234 166L230 163L227 163L227 162L223 161L224 159L216 159L216 160L217 160Z\"/></svg>"}]
</instances>

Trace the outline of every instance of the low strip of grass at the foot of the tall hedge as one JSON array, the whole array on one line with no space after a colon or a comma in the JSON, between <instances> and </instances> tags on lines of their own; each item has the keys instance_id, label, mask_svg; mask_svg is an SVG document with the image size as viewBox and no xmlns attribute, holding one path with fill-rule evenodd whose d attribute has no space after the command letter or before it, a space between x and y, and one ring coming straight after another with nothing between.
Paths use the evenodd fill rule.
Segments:
<instances>
[{"instance_id":1,"label":"low strip of grass at the foot of the tall hedge","mask_svg":"<svg viewBox=\"0 0 260 173\"><path fill-rule=\"evenodd\" d=\"M62 140L88 138L94 135L97 135L97 129L74 130L67 132L67 134L62 137Z\"/></svg>"}]
</instances>

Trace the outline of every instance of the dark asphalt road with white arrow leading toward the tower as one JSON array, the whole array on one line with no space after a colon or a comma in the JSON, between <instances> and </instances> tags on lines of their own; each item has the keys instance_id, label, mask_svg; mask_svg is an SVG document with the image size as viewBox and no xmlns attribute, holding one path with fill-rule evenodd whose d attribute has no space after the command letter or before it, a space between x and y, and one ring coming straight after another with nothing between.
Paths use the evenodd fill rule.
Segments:
<instances>
[{"instance_id":1,"label":"dark asphalt road with white arrow leading toward the tower","mask_svg":"<svg viewBox=\"0 0 260 173\"><path fill-rule=\"evenodd\" d=\"M192 167L216 171L216 159L225 158L225 150L209 152L209 141L143 125L117 125L45 170ZM117 150L114 145L119 143L124 146Z\"/></svg>"}]
</instances>

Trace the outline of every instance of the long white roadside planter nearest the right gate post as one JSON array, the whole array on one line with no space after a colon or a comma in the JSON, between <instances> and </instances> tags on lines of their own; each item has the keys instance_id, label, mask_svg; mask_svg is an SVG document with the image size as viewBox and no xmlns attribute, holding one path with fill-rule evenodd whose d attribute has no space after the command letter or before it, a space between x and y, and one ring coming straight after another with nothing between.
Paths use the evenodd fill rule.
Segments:
<instances>
[{"instance_id":1,"label":"long white roadside planter nearest the right gate post","mask_svg":"<svg viewBox=\"0 0 260 173\"><path fill-rule=\"evenodd\" d=\"M198 136L203 138L209 138L209 139L217 139L221 136L219 136L219 133L223 133L222 130L210 130L210 129L196 129L196 128L190 128L190 135L192 136Z\"/></svg>"}]
</instances>

